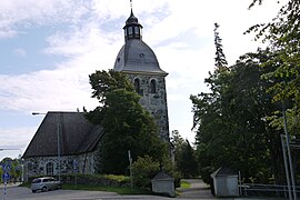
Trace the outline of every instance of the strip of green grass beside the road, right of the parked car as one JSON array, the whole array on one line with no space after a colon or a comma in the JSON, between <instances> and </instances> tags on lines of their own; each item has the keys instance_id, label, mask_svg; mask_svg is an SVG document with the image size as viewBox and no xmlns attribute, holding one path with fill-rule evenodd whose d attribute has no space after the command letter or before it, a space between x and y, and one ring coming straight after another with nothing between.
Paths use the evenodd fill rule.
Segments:
<instances>
[{"instance_id":1,"label":"strip of green grass beside the road, right of the parked car","mask_svg":"<svg viewBox=\"0 0 300 200\"><path fill-rule=\"evenodd\" d=\"M119 194L151 194L149 190L132 189L129 187L103 187L90 184L62 184L63 190L88 190L88 191L108 191Z\"/></svg>"}]
</instances>

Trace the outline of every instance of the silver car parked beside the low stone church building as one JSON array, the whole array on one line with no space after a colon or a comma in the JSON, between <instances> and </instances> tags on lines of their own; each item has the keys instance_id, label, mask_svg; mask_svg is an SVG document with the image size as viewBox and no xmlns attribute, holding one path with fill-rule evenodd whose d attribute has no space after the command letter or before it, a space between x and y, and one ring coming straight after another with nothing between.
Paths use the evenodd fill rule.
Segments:
<instances>
[{"instance_id":1,"label":"silver car parked beside the low stone church building","mask_svg":"<svg viewBox=\"0 0 300 200\"><path fill-rule=\"evenodd\" d=\"M57 190L61 189L61 182L54 179L53 177L41 177L33 179L31 182L31 191L34 193L36 191L48 191L48 190Z\"/></svg>"}]
</instances>

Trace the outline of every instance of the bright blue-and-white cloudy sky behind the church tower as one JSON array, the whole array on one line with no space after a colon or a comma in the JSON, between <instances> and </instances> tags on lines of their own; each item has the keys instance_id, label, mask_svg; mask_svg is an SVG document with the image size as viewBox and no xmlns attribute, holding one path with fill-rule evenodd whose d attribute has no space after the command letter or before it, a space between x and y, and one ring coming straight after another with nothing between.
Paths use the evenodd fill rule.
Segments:
<instances>
[{"instance_id":1,"label":"bright blue-and-white cloudy sky behind the church tower","mask_svg":"<svg viewBox=\"0 0 300 200\"><path fill-rule=\"evenodd\" d=\"M243 32L269 22L280 4L264 0L133 0L143 26L142 40L169 73L170 132L194 141L190 94L208 91L214 69L214 22L220 24L229 64L262 44ZM129 0L1 0L0 6L0 160L26 151L44 116L98 106L89 74L112 69L124 44Z\"/></svg>"}]
</instances>

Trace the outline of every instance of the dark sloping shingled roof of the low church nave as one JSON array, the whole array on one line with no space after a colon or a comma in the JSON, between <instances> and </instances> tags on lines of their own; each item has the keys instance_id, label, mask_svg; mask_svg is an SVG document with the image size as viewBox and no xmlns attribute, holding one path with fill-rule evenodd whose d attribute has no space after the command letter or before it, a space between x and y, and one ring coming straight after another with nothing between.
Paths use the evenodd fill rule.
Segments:
<instances>
[{"instance_id":1,"label":"dark sloping shingled roof of the low church nave","mask_svg":"<svg viewBox=\"0 0 300 200\"><path fill-rule=\"evenodd\" d=\"M61 156L94 151L103 134L102 128L90 123L82 112L48 112L23 158L57 156L58 132Z\"/></svg>"}]
</instances>

